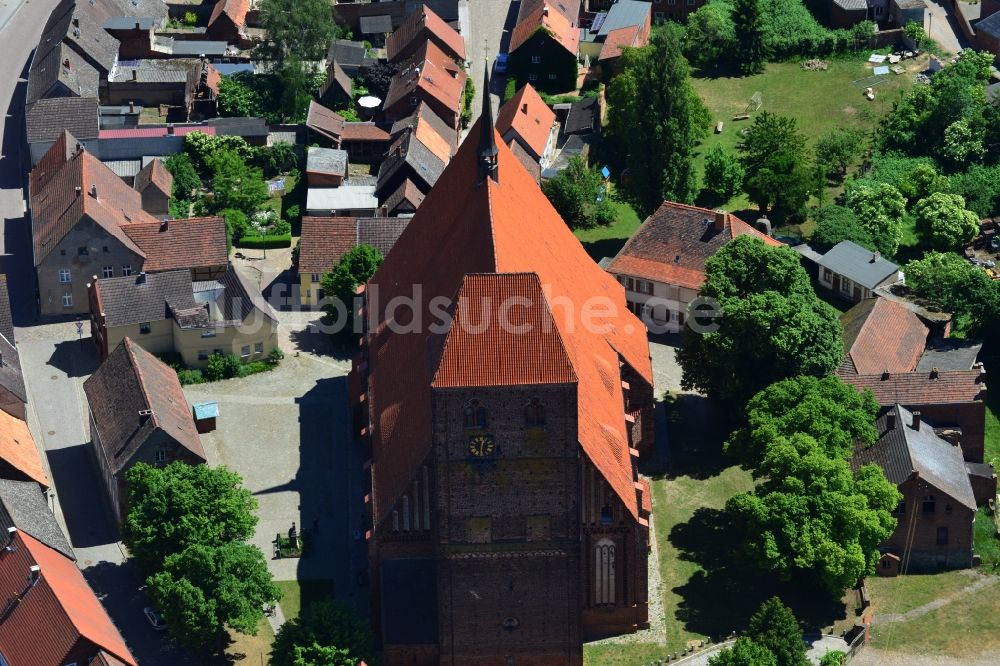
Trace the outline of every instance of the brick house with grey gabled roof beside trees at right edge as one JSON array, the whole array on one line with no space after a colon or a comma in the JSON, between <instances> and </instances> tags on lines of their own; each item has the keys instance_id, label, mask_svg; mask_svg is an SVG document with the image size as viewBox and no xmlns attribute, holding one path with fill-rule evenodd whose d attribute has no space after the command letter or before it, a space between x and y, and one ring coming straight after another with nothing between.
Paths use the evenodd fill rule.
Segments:
<instances>
[{"instance_id":1,"label":"brick house with grey gabled roof beside trees at right edge","mask_svg":"<svg viewBox=\"0 0 1000 666\"><path fill-rule=\"evenodd\" d=\"M858 445L852 466L874 463L903 494L896 530L880 547L880 575L972 566L976 499L961 446L939 437L920 411L883 409L878 440Z\"/></svg>"}]
</instances>

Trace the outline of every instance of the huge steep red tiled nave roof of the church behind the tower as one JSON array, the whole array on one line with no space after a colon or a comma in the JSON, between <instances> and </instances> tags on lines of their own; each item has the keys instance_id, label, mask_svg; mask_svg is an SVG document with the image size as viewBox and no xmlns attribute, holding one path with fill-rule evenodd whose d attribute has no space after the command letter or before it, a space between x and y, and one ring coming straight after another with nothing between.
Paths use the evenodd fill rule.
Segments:
<instances>
[{"instance_id":1,"label":"huge steep red tiled nave roof of the church behind the tower","mask_svg":"<svg viewBox=\"0 0 1000 666\"><path fill-rule=\"evenodd\" d=\"M469 136L476 137L479 131L477 125ZM474 141L463 144L372 278L369 293L377 289L378 303L385 307L395 296L411 295L413 285L420 284L423 321L430 322L439 320L433 299L455 298L470 274L537 275L546 306L557 315L556 333L577 378L578 440L584 455L600 470L628 511L638 516L619 364L624 359L639 377L652 384L644 327L625 308L622 286L587 256L538 184L502 145L499 136L496 140L497 181L487 179L485 184L477 184L478 147ZM480 289L480 285L481 289L499 289L507 285L505 280L484 279L469 289ZM588 310L595 298L602 305L610 301L616 307L612 312ZM565 307L553 309L553 302L573 303L575 312L567 313ZM593 325L582 323L585 310L599 315ZM442 366L438 350L445 341L436 338L429 326L416 333L395 334L385 314L370 314L376 323L368 338L377 521L385 518L430 450L433 377L444 367L442 377L459 381L459 375L448 368L454 367L454 373L459 373L462 363L458 356L475 346L466 344L461 337L452 338L448 345L455 346L446 352L448 358ZM396 314L397 321L405 324ZM491 333L490 339L503 340L495 335ZM556 346L546 343L544 349L554 350ZM452 354L456 355L454 366ZM470 366L489 365L481 368L481 377L490 381L504 376L505 371L492 367L502 363L518 367L510 358L477 356L474 362L465 359ZM550 358L548 363L548 367L557 368L560 361ZM537 373L527 364L520 367L529 373L523 381L531 381L532 373ZM561 369L551 376L565 378L568 373Z\"/></svg>"}]
</instances>

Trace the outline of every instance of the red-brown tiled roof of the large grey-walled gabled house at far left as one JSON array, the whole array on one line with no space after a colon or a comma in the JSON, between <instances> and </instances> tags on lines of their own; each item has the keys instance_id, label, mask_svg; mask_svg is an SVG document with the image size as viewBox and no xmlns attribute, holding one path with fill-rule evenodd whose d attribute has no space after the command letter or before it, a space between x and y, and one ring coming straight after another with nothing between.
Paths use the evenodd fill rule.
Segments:
<instances>
[{"instance_id":1,"label":"red-brown tiled roof of the large grey-walled gabled house at far left","mask_svg":"<svg viewBox=\"0 0 1000 666\"><path fill-rule=\"evenodd\" d=\"M86 151L73 154L68 147L75 143L64 132L29 177L35 265L84 216L143 256L142 250L122 231L122 225L156 222L156 218L142 209L140 194L100 160ZM97 196L92 196L92 192Z\"/></svg>"}]
</instances>

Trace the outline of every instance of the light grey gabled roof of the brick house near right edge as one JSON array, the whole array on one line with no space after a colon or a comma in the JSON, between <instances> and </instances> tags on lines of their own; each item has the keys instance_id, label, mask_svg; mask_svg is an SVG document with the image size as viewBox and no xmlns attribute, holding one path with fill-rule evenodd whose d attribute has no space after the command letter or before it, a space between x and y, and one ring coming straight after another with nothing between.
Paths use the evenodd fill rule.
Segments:
<instances>
[{"instance_id":1,"label":"light grey gabled roof of the brick house near right edge","mask_svg":"<svg viewBox=\"0 0 1000 666\"><path fill-rule=\"evenodd\" d=\"M888 427L890 413L896 414L896 426L892 429ZM975 511L976 498L961 447L938 437L933 426L925 421L921 421L919 430L914 430L912 424L913 413L905 407L897 404L883 409L875 423L878 440L869 447L858 445L852 466L857 469L874 463L897 486L916 472L938 491Z\"/></svg>"}]
</instances>

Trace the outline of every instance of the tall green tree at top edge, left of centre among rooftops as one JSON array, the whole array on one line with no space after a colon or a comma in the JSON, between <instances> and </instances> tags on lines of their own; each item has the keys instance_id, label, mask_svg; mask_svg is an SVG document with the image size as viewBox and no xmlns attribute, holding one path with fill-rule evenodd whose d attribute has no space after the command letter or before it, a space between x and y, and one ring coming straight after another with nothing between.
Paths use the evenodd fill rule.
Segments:
<instances>
[{"instance_id":1,"label":"tall green tree at top edge, left of centre among rooftops","mask_svg":"<svg viewBox=\"0 0 1000 666\"><path fill-rule=\"evenodd\" d=\"M278 71L288 60L323 60L341 33L327 0L261 0L260 23L267 39L257 45L255 55Z\"/></svg>"}]
</instances>

